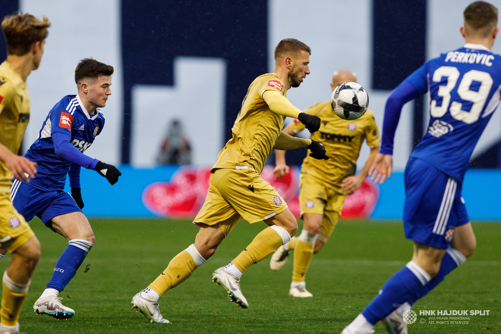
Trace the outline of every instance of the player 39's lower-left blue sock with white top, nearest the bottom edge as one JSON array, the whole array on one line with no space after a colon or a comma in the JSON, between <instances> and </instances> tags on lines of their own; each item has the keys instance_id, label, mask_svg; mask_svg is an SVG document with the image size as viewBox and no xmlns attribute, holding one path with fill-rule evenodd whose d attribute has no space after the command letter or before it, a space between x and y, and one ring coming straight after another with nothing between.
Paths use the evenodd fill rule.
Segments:
<instances>
[{"instance_id":1,"label":"player 39's lower-left blue sock with white top, nearest the bottom edge","mask_svg":"<svg viewBox=\"0 0 501 334\"><path fill-rule=\"evenodd\" d=\"M430 279L424 269L410 261L384 283L378 295L362 311L363 316L375 325L405 301L417 300L416 293Z\"/></svg>"}]
</instances>

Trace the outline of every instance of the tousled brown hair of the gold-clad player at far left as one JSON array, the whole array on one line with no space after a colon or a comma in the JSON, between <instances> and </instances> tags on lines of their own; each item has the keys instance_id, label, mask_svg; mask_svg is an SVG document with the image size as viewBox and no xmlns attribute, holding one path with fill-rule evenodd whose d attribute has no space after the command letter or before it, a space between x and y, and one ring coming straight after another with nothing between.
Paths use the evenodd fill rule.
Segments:
<instances>
[{"instance_id":1,"label":"tousled brown hair of the gold-clad player at far left","mask_svg":"<svg viewBox=\"0 0 501 334\"><path fill-rule=\"evenodd\" d=\"M21 12L6 16L2 21L2 32L7 42L7 55L26 55L34 43L47 38L50 26L49 19L45 16L42 21Z\"/></svg>"}]
</instances>

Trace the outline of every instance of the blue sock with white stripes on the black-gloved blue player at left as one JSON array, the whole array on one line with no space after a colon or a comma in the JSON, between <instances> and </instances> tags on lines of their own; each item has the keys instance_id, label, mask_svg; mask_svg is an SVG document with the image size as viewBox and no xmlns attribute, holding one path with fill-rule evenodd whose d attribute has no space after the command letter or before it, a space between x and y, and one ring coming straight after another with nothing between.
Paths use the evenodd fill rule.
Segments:
<instances>
[{"instance_id":1,"label":"blue sock with white stripes on the black-gloved blue player at left","mask_svg":"<svg viewBox=\"0 0 501 334\"><path fill-rule=\"evenodd\" d=\"M94 245L93 242L82 239L73 239L68 243L68 247L66 247L56 263L54 273L47 284L47 289L52 288L59 292L63 291Z\"/></svg>"}]
</instances>

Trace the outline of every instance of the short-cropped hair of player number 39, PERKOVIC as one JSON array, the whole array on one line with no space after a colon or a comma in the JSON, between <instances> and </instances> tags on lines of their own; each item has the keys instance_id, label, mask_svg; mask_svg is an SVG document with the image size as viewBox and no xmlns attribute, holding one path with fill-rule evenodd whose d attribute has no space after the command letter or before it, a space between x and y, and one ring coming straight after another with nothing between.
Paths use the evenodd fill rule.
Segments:
<instances>
[{"instance_id":1,"label":"short-cropped hair of player number 39, PERKOVIC","mask_svg":"<svg viewBox=\"0 0 501 334\"><path fill-rule=\"evenodd\" d=\"M484 1L475 1L463 12L464 30L468 36L487 37L497 25L497 8Z\"/></svg>"}]
</instances>

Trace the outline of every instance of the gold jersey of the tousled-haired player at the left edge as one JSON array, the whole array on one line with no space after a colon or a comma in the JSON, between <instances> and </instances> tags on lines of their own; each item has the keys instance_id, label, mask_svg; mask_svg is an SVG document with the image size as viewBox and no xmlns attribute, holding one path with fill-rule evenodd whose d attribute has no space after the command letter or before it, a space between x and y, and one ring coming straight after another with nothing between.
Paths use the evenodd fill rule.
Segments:
<instances>
[{"instance_id":1,"label":"gold jersey of the tousled-haired player at the left edge","mask_svg":"<svg viewBox=\"0 0 501 334\"><path fill-rule=\"evenodd\" d=\"M17 154L30 120L26 83L7 61L0 65L0 143ZM12 172L0 161L0 192L9 192Z\"/></svg>"}]
</instances>

